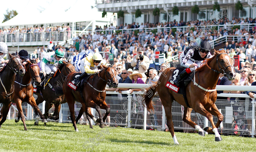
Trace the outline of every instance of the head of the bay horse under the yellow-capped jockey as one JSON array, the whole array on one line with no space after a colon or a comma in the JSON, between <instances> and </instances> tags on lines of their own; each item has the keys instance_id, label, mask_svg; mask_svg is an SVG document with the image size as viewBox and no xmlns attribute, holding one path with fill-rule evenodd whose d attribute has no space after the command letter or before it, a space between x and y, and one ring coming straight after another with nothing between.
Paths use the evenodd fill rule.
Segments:
<instances>
[{"instance_id":1,"label":"head of the bay horse under the yellow-capped jockey","mask_svg":"<svg viewBox=\"0 0 256 152\"><path fill-rule=\"evenodd\" d=\"M108 86L117 88L118 81L116 79L116 70L114 69L114 67L109 67L105 65L102 65L102 67L104 68L103 71L105 71L105 79L107 79L108 81Z\"/></svg>"}]
</instances>

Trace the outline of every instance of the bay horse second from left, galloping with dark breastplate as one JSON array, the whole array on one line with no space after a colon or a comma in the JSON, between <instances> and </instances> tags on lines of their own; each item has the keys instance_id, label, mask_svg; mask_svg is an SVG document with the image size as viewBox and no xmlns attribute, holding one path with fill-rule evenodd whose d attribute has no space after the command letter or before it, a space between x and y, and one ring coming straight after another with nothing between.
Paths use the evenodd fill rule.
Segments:
<instances>
[{"instance_id":1,"label":"bay horse second from left, galloping with dark breastplate","mask_svg":"<svg viewBox=\"0 0 256 152\"><path fill-rule=\"evenodd\" d=\"M24 125L24 130L27 130L27 126L25 123L25 116L22 111L22 102L27 102L30 104L34 110L35 114L41 117L42 122L47 123L47 120L44 118L43 114L41 113L40 109L38 108L35 98L33 96L33 91L34 87L32 85L32 82L35 82L36 85L40 85L41 83L41 78L39 76L39 66L37 64L37 59L36 60L31 60L27 61L28 63L25 65L25 75L20 77L19 75L16 76L15 78L15 83L14 83L14 102L16 103L17 109L19 111L18 118L15 119L15 122L19 122L20 118L23 122ZM39 119L39 118L38 118Z\"/></svg>"}]
</instances>

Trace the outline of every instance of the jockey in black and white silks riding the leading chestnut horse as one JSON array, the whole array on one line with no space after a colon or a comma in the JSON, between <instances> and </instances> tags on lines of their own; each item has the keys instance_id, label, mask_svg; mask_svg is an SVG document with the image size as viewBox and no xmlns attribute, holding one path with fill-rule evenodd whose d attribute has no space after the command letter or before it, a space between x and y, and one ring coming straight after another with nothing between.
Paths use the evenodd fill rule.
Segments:
<instances>
[{"instance_id":1,"label":"jockey in black and white silks riding the leading chestnut horse","mask_svg":"<svg viewBox=\"0 0 256 152\"><path fill-rule=\"evenodd\" d=\"M212 55L210 54L210 49L211 44L208 41L202 41L200 46L187 47L182 53L183 57L181 58L180 62L180 65L182 67L186 67L186 69L177 76L177 78L173 81L173 84L177 85L181 79L194 71L197 66L201 67L201 61L211 58ZM192 60L195 60L195 63Z\"/></svg>"}]
</instances>

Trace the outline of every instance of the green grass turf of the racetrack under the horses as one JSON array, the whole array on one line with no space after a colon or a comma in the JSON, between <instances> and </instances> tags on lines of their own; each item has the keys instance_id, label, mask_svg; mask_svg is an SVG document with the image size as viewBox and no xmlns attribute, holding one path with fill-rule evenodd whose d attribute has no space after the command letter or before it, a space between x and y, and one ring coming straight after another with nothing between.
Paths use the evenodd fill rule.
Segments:
<instances>
[{"instance_id":1,"label":"green grass turf of the racetrack under the horses","mask_svg":"<svg viewBox=\"0 0 256 152\"><path fill-rule=\"evenodd\" d=\"M77 125L75 132L71 123L48 123L34 126L34 121L26 121L27 131L23 123L6 120L0 128L0 151L89 151L83 149L93 145L93 151L256 151L256 139L222 136L222 141L215 142L214 135L199 136L196 133L176 133L180 145L174 145L171 133L162 131L138 130L116 127L101 129L94 126ZM102 134L100 134L102 133ZM98 139L96 136L98 134ZM89 143L89 138L95 138Z\"/></svg>"}]
</instances>

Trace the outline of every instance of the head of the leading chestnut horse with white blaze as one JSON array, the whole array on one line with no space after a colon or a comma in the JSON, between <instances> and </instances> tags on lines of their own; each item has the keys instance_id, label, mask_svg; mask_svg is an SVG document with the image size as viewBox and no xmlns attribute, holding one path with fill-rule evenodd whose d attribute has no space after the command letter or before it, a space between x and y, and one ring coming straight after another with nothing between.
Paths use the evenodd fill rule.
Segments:
<instances>
[{"instance_id":1,"label":"head of the leading chestnut horse with white blaze","mask_svg":"<svg viewBox=\"0 0 256 152\"><path fill-rule=\"evenodd\" d=\"M219 73L223 74L226 76L229 80L233 80L236 76L236 72L234 70L234 67L232 66L232 60L229 57L229 55L226 53L226 51L220 50L216 51L216 70L219 71ZM218 65L218 67L217 67Z\"/></svg>"}]
</instances>

